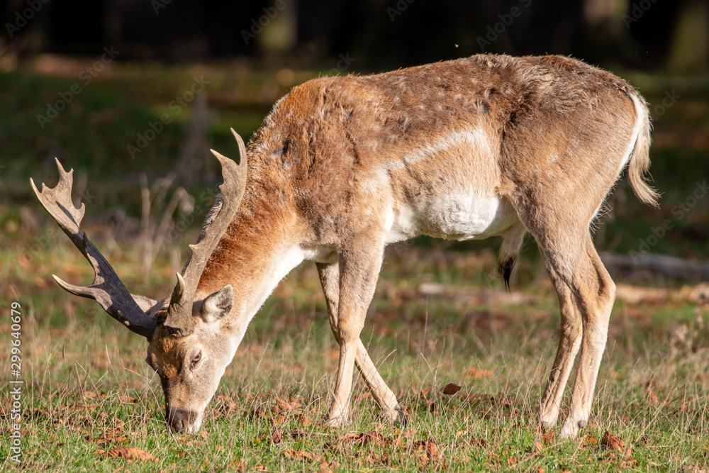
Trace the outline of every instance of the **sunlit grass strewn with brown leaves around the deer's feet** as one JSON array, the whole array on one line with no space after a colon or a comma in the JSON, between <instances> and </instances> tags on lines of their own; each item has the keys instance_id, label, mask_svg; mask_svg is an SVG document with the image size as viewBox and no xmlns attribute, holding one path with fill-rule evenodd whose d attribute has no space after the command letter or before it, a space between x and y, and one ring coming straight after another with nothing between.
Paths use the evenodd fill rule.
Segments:
<instances>
[{"instance_id":1,"label":"sunlit grass strewn with brown leaves around the deer's feet","mask_svg":"<svg viewBox=\"0 0 709 473\"><path fill-rule=\"evenodd\" d=\"M28 469L550 472L707 467L709 317L681 300L634 306L618 301L591 425L577 440L547 435L537 445L535 413L558 323L546 279L527 281L511 294L500 286L467 286L457 277L479 271L484 257L440 250L457 267L437 269L440 255L394 248L362 339L406 408L408 426L382 421L357 377L352 423L330 429L321 421L338 352L316 271L306 265L279 286L255 318L201 433L172 435L163 421L160 384L143 362L145 342L90 301L48 284L46 275L84 265L78 252L69 250L62 247L55 257L43 254L36 272L13 272L6 291L16 294L23 311L21 425ZM113 252L111 260L125 260L130 248L124 251ZM169 266L159 260L155 269L164 274ZM116 267L119 274L140 274L128 263ZM445 286L446 296L427 300L425 284L435 279L457 282ZM129 287L132 280L126 279ZM162 290L167 294L169 287ZM10 325L5 321L0 352L9 359ZM687 333L671 342L668 334L682 324ZM449 383L462 389L442 394ZM6 409L9 388L4 391ZM7 411L3 414L5 436L11 425ZM620 452L601 445L605 430L632 449ZM140 448L155 459L107 456L120 447ZM13 464L8 454L4 442L4 467Z\"/></svg>"}]
</instances>

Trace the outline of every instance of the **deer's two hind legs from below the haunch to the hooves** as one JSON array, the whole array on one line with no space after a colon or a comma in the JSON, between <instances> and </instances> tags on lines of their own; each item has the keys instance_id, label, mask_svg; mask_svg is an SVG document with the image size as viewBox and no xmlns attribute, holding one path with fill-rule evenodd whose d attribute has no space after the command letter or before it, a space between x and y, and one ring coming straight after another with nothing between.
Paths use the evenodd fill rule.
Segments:
<instances>
[{"instance_id":1,"label":"deer's two hind legs from below the haunch to the hooves","mask_svg":"<svg viewBox=\"0 0 709 473\"><path fill-rule=\"evenodd\" d=\"M562 307L562 339L554 361L554 368L558 368L558 371L552 369L549 375L549 384L540 406L540 420L550 421L555 417L554 414L558 414L559 398L574 360L572 355L578 350L578 316L574 314L580 313L582 330L579 366L576 369L569 414L560 430L562 437L574 437L579 428L586 427L591 414L593 391L608 339L615 284L603 267L586 228L582 232L557 237L543 235L537 240L547 257L549 274L552 274L557 286ZM568 291L564 285L568 286ZM571 308L571 301L575 308Z\"/></svg>"}]
</instances>

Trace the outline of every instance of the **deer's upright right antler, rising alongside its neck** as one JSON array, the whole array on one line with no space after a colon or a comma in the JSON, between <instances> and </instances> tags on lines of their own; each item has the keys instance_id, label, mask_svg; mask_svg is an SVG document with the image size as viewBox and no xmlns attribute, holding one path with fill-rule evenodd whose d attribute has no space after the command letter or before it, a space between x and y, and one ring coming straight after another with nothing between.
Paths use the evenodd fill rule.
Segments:
<instances>
[{"instance_id":1,"label":"deer's upright right antler, rising alongside its neck","mask_svg":"<svg viewBox=\"0 0 709 473\"><path fill-rule=\"evenodd\" d=\"M224 184L220 185L221 206L218 215L204 229L199 243L189 245L192 254L189 257L182 276L177 274L177 284L172 291L172 298L167 309L164 325L176 337L184 337L194 332L192 319L192 302L197 291L199 278L209 260L209 256L224 235L229 224L236 215L246 189L246 146L238 133L231 129L239 146L239 160L234 162L215 150L210 150L222 165Z\"/></svg>"}]
</instances>

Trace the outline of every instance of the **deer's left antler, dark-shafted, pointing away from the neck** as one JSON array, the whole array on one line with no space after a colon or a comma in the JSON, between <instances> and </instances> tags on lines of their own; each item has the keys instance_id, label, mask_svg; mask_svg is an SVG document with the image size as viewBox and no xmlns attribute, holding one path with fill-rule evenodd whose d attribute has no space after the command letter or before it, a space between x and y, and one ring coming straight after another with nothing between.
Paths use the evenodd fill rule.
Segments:
<instances>
[{"instance_id":1,"label":"deer's left antler, dark-shafted, pointing away from the neck","mask_svg":"<svg viewBox=\"0 0 709 473\"><path fill-rule=\"evenodd\" d=\"M123 286L116 272L113 271L111 265L108 264L104 255L101 255L101 252L96 250L94 244L86 237L86 233L79 228L86 209L84 204L76 208L72 202L74 169L66 172L59 160L55 160L59 170L59 184L57 184L57 187L52 189L42 184L42 191L40 192L37 190L32 178L30 178L30 184L32 184L32 189L35 191L40 203L49 212L50 216L55 219L57 225L64 230L64 233L71 238L74 245L79 248L79 251L91 264L91 267L94 268L96 277L94 277L94 282L90 286L74 286L74 284L62 281L54 274L52 274L52 277L65 291L87 299L94 299L101 304L101 307L104 308L108 315L133 332L138 333L138 335L149 338L155 328L155 321L145 315L145 311L140 308L136 299L143 306L147 306L146 308L151 303L155 304L155 301L130 294L128 289Z\"/></svg>"}]
</instances>

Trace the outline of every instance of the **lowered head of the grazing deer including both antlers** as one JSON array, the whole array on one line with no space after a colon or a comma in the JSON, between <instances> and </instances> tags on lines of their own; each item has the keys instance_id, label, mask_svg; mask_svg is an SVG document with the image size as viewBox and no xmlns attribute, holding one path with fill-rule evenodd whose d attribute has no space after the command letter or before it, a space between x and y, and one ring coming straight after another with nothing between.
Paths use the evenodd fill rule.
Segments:
<instances>
[{"instance_id":1,"label":"lowered head of the grazing deer including both antlers","mask_svg":"<svg viewBox=\"0 0 709 473\"><path fill-rule=\"evenodd\" d=\"M89 286L74 286L54 277L63 289L77 296L94 299L104 311L129 330L147 338L147 363L160 375L165 397L165 418L172 430L194 432L199 429L204 409L214 395L219 380L233 359L238 339L232 336L228 316L234 306L232 286L226 285L212 294L199 291L199 279L209 256L219 243L238 211L246 186L246 147L241 137L231 130L238 143L239 160L211 150L222 165L224 184L221 196L196 245L189 245L191 256L172 296L154 301L130 294L128 289L96 250L79 227L84 217L84 204L72 202L74 169L66 172L57 160L59 183L54 188L42 184L38 191L30 183L37 198L82 252L96 277Z\"/></svg>"}]
</instances>

